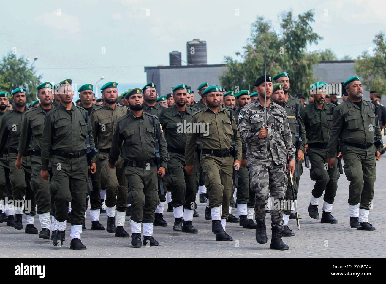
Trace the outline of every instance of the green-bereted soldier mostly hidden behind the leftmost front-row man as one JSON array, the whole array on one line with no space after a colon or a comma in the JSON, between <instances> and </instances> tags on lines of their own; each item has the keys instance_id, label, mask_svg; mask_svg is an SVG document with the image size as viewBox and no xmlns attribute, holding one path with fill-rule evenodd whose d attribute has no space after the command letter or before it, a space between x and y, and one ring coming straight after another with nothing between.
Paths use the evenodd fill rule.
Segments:
<instances>
[{"instance_id":1,"label":"green-bereted soldier mostly hidden behind the leftmost front-row man","mask_svg":"<svg viewBox=\"0 0 386 284\"><path fill-rule=\"evenodd\" d=\"M94 87L91 84L84 84L80 86L78 89L79 92L79 97L81 100L81 103L79 106L87 110L88 112L88 117L91 119L91 112L94 110L97 110L98 108L101 108L102 106L97 105L96 103L93 103L93 98L95 96L94 93ZM92 123L91 123L92 125ZM95 141L95 136L93 135L94 138L94 143L97 145ZM97 165L98 171L91 175L91 185L92 189L90 192L90 196L87 197L86 199L86 210L88 206L88 200L90 198L90 219L91 219L91 230L105 230L105 227L99 222L99 215L100 215L100 210L102 209L102 201L100 198L100 160L98 157L95 157L95 162ZM86 225L83 221L83 230L86 228Z\"/></svg>"}]
</instances>

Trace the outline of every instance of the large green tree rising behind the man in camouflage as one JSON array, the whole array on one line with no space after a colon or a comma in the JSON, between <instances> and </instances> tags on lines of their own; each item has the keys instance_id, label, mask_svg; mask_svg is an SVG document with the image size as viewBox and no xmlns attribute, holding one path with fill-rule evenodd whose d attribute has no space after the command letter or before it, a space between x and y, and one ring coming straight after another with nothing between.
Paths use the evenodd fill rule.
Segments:
<instances>
[{"instance_id":1,"label":"large green tree rising behind the man in camouflage","mask_svg":"<svg viewBox=\"0 0 386 284\"><path fill-rule=\"evenodd\" d=\"M312 10L298 15L294 19L293 12L283 12L280 30L273 29L271 22L258 16L252 24L251 35L243 52L236 52L240 59L225 57L227 69L220 76L222 86L227 90L251 89L254 82L264 74L264 47L267 45L267 74L275 76L286 71L291 80L290 93L308 93L310 84L315 81L313 65L319 61L317 52L307 52L308 44L317 44L323 39L313 32L314 22Z\"/></svg>"}]
</instances>

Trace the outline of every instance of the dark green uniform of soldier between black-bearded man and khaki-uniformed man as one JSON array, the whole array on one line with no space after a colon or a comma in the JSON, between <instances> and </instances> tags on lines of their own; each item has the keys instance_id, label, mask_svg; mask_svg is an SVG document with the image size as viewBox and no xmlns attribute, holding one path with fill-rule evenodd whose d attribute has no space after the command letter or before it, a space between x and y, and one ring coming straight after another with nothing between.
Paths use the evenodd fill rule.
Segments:
<instances>
[{"instance_id":1,"label":"dark green uniform of soldier between black-bearded man and khaki-uniformed man","mask_svg":"<svg viewBox=\"0 0 386 284\"><path fill-rule=\"evenodd\" d=\"M194 111L189 107L186 107L185 113L179 113L176 105L173 105L171 108L163 110L159 117L170 156L167 180L168 188L171 189L171 205L174 208L181 206L181 214L176 213L176 210L174 210L175 218L182 217L182 207L185 210L197 208L195 201L198 188L198 164L195 164L192 174L189 175L185 172L185 146L188 138L187 129L184 129L184 125L191 123L193 113ZM197 153L195 153L195 156L198 156Z\"/></svg>"}]
</instances>

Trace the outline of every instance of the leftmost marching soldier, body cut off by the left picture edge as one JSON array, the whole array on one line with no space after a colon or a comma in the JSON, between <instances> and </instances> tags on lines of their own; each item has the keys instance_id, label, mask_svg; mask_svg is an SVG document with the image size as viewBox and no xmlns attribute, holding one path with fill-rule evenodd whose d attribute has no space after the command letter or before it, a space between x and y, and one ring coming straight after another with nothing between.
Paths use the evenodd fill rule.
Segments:
<instances>
[{"instance_id":1,"label":"leftmost marching soldier, body cut off by the left picture edge","mask_svg":"<svg viewBox=\"0 0 386 284\"><path fill-rule=\"evenodd\" d=\"M8 108L8 92L0 92L0 125L1 118L6 113L10 112ZM7 222L7 226L14 227L14 207L12 205L12 187L9 181L9 157L8 147L0 149L3 156L0 157L0 200L2 200L2 208L0 208L0 223ZM8 203L5 204L5 198L8 198Z\"/></svg>"}]
</instances>

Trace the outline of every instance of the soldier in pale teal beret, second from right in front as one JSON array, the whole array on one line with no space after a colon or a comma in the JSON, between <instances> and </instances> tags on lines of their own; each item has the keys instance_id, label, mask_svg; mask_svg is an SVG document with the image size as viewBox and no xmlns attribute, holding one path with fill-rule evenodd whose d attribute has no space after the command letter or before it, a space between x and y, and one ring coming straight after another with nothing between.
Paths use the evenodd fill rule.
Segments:
<instances>
[{"instance_id":1,"label":"soldier in pale teal beret, second from right in front","mask_svg":"<svg viewBox=\"0 0 386 284\"><path fill-rule=\"evenodd\" d=\"M332 204L338 188L339 171L337 161L334 167L327 169L325 161L327 159L327 142L333 124L332 115L335 110L333 103L325 102L326 83L315 82L311 86L311 95L314 98L312 104L300 111L301 118L305 122L308 141L308 157L311 162L310 177L315 181L312 190L308 213L311 218L319 219L318 205L319 198L325 191L323 200L323 214L321 223L336 224L332 215ZM340 155L339 155L340 156Z\"/></svg>"}]
</instances>

